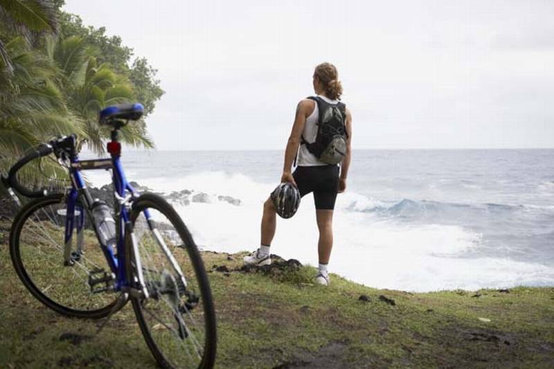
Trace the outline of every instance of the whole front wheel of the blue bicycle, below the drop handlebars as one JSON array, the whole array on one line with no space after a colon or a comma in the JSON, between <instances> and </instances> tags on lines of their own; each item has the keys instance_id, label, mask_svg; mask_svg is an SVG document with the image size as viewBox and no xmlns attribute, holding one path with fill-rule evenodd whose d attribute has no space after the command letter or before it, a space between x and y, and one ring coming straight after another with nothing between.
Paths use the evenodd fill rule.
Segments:
<instances>
[{"instance_id":1,"label":"whole front wheel of the blue bicycle, below the drop handlebars","mask_svg":"<svg viewBox=\"0 0 554 369\"><path fill-rule=\"evenodd\" d=\"M91 291L91 272L98 276L110 269L87 215L77 201L72 235L66 245L64 195L31 201L12 224L10 256L17 276L41 303L66 316L102 318L114 307L117 296Z\"/></svg>"}]
</instances>

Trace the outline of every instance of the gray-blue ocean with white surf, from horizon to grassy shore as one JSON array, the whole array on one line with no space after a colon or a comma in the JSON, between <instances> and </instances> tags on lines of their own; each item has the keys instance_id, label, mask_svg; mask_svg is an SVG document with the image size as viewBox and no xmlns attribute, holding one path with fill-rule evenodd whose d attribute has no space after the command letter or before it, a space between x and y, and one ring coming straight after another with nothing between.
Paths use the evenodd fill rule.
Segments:
<instances>
[{"instance_id":1,"label":"gray-blue ocean with white surf, from horizon to grassy shore","mask_svg":"<svg viewBox=\"0 0 554 369\"><path fill-rule=\"evenodd\" d=\"M195 241L234 253L259 246L283 152L124 151L122 161L141 186L193 191L173 204ZM87 174L94 186L109 181ZM554 150L354 150L347 186L332 273L405 291L554 286ZM278 218L271 252L317 265L317 237L307 195Z\"/></svg>"}]
</instances>

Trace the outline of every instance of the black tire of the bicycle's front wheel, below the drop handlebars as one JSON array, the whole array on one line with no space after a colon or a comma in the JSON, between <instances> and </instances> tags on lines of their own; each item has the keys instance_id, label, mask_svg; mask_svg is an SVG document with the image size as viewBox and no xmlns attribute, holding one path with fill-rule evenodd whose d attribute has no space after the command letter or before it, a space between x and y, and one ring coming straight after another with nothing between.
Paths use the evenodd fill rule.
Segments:
<instances>
[{"instance_id":1,"label":"black tire of the bicycle's front wheel, below the drop handlebars","mask_svg":"<svg viewBox=\"0 0 554 369\"><path fill-rule=\"evenodd\" d=\"M24 226L26 225L28 219L30 219L33 215L36 215L39 210L44 210L46 206L53 206L56 204L65 204L65 197L63 194L48 195L46 197L30 201L23 208L21 208L19 213L16 215L10 231L10 258L15 268L15 272L30 294L55 312L64 316L71 316L75 318L98 319L105 317L112 311L112 309L114 309L114 305L118 303L118 299L115 294L113 295L114 300L111 301L111 303L102 304L104 306L98 309L82 310L68 307L64 305L64 303L60 303L60 301L53 300L51 296L44 293L44 289L37 287L36 279L33 281L33 278L30 277L30 273L28 273L28 269L25 267L26 263L21 259L21 232L24 230ZM48 235L48 237L50 237L50 235ZM100 244L97 244L96 246L99 248ZM89 296L96 295L89 294ZM117 307L117 309L120 309L123 305L125 305L125 303L121 304L121 306Z\"/></svg>"}]
</instances>

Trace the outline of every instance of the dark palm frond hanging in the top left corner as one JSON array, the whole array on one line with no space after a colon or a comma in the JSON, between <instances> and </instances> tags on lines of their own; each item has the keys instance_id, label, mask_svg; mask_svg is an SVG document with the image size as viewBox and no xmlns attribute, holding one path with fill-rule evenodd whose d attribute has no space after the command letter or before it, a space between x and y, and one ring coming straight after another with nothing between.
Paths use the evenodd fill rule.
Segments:
<instances>
[{"instance_id":1,"label":"dark palm frond hanging in the top left corner","mask_svg":"<svg viewBox=\"0 0 554 369\"><path fill-rule=\"evenodd\" d=\"M0 0L0 24L6 33L28 38L33 32L55 32L58 10L51 0ZM0 59L11 73L12 60L4 37L0 37Z\"/></svg>"}]
</instances>

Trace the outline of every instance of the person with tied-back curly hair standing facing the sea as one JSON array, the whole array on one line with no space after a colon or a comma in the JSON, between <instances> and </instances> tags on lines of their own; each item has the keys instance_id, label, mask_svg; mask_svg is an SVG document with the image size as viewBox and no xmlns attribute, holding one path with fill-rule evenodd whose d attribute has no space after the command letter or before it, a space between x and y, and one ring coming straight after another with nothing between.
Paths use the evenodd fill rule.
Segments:
<instances>
[{"instance_id":1,"label":"person with tied-back curly hair standing facing the sea","mask_svg":"<svg viewBox=\"0 0 554 369\"><path fill-rule=\"evenodd\" d=\"M346 178L350 166L352 139L352 116L346 109L346 105L340 102L342 94L341 82L338 79L337 68L330 63L322 63L316 66L313 75L313 86L316 96L310 97L298 103L296 116L292 126L292 132L285 149L285 164L281 183L292 183L296 186L301 196L313 192L316 208L316 221L319 229L319 272L316 282L321 285L329 285L328 263L333 244L332 217L337 193L346 190ZM325 109L338 111L341 124L345 128L346 152L341 152L343 158L340 165L329 164L323 159L321 152L314 149L318 137L318 124L323 119L321 112ZM298 148L298 146L300 146ZM320 150L321 151L321 150ZM292 163L298 152L298 166L291 173ZM269 197L264 203L262 215L262 229L260 248L244 258L244 264L268 265L271 264L269 249L276 229L276 204L274 196ZM285 199L286 201L286 199Z\"/></svg>"}]
</instances>

